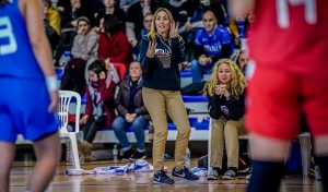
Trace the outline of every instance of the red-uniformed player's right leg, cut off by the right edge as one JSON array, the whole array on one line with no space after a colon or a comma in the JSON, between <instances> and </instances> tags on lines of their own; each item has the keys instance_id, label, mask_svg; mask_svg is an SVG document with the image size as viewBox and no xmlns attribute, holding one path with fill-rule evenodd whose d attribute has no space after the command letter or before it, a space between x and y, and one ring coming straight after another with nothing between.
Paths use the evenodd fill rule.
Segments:
<instances>
[{"instance_id":1,"label":"red-uniformed player's right leg, cut off by the right edge","mask_svg":"<svg viewBox=\"0 0 328 192\"><path fill-rule=\"evenodd\" d=\"M315 74L317 73L317 74ZM314 75L315 74L315 75ZM303 76L304 111L314 137L315 155L325 191L328 191L328 81L327 74Z\"/></svg>"}]
</instances>

